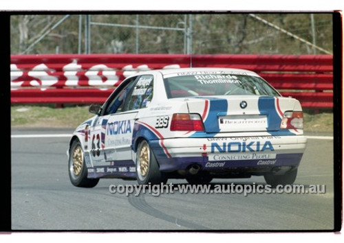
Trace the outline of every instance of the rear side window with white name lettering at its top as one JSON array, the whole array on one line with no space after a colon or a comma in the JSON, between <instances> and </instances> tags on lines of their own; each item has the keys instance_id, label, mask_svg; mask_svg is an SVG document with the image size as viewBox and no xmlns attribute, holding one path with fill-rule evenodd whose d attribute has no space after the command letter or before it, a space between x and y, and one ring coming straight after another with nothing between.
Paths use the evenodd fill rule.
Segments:
<instances>
[{"instance_id":1,"label":"rear side window with white name lettering at its top","mask_svg":"<svg viewBox=\"0 0 344 243\"><path fill-rule=\"evenodd\" d=\"M147 104L151 102L153 96L153 76L143 75L140 76L135 86L133 87L127 104L125 105L125 111L137 110L147 107Z\"/></svg>"}]
</instances>

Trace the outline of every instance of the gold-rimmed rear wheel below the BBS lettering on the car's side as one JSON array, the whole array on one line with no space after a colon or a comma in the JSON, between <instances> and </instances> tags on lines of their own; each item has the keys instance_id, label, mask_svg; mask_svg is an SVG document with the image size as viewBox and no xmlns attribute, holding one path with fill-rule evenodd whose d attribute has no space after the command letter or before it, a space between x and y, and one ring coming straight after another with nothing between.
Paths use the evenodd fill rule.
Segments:
<instances>
[{"instance_id":1,"label":"gold-rimmed rear wheel below the BBS lettering on the car's side","mask_svg":"<svg viewBox=\"0 0 344 243\"><path fill-rule=\"evenodd\" d=\"M167 178L160 172L158 162L146 140L142 140L136 152L136 178L141 185L166 183Z\"/></svg>"}]
</instances>

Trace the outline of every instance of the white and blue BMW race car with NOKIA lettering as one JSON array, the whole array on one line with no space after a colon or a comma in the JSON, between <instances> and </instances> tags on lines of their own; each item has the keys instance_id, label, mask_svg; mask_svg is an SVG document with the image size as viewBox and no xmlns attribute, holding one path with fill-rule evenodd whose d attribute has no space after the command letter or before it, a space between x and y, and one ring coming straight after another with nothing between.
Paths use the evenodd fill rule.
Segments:
<instances>
[{"instance_id":1,"label":"white and blue BMW race car with NOKIA lettering","mask_svg":"<svg viewBox=\"0 0 344 243\"><path fill-rule=\"evenodd\" d=\"M94 117L76 128L67 150L77 187L99 178L147 185L250 176L287 185L307 141L300 102L244 69L139 72L89 112Z\"/></svg>"}]
</instances>

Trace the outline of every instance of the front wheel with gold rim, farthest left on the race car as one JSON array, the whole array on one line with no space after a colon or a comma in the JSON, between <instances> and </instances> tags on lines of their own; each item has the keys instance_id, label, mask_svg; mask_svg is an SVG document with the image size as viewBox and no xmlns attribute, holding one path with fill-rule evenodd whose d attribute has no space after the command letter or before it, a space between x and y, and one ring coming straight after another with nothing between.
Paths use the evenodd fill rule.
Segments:
<instances>
[{"instance_id":1,"label":"front wheel with gold rim, farthest left on the race car","mask_svg":"<svg viewBox=\"0 0 344 243\"><path fill-rule=\"evenodd\" d=\"M95 187L98 184L99 178L87 178L84 152L78 140L70 146L68 169L69 179L76 187Z\"/></svg>"}]
</instances>

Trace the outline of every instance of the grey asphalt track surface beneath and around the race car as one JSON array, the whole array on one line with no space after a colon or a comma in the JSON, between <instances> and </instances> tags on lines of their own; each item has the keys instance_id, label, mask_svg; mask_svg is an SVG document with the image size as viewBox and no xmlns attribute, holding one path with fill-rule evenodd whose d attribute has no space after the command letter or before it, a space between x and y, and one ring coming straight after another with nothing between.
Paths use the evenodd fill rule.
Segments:
<instances>
[{"instance_id":1,"label":"grey asphalt track surface beneath and around the race car","mask_svg":"<svg viewBox=\"0 0 344 243\"><path fill-rule=\"evenodd\" d=\"M74 187L69 182L66 156L69 138L65 137L68 134L72 134L72 129L12 128L13 230L331 230L334 227L331 139L308 139L295 181L306 187L325 185L325 194L244 196L175 192L125 196L109 193L109 185L136 184L136 181L102 179L89 189ZM168 183L177 185L186 181ZM230 183L265 185L262 176L216 179L211 185Z\"/></svg>"}]
</instances>

